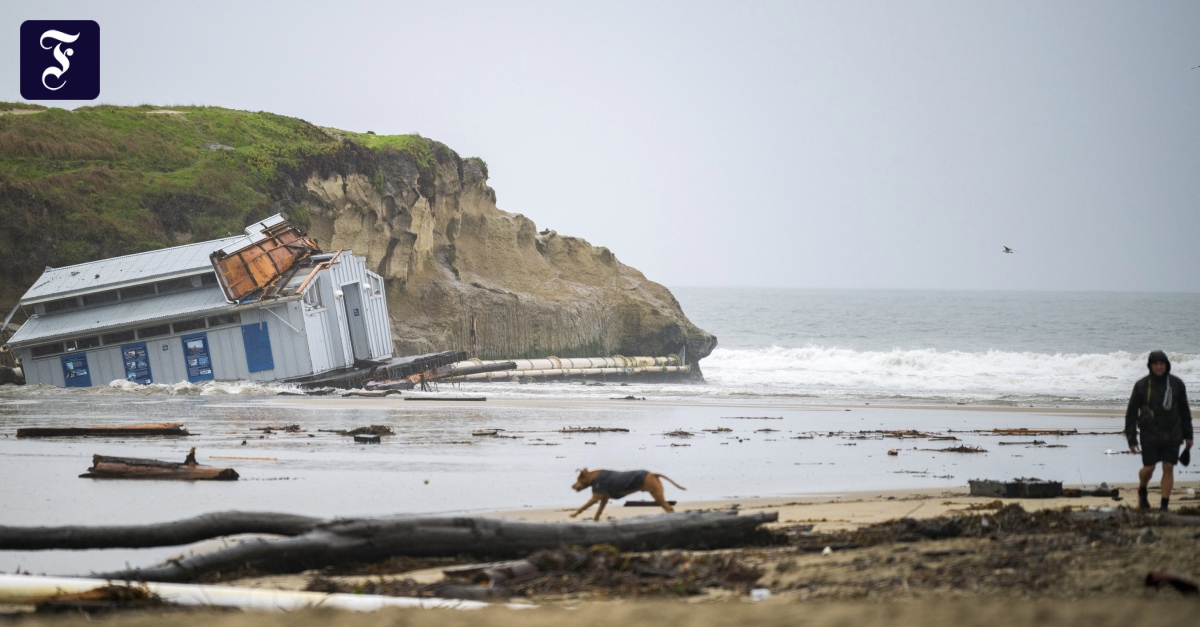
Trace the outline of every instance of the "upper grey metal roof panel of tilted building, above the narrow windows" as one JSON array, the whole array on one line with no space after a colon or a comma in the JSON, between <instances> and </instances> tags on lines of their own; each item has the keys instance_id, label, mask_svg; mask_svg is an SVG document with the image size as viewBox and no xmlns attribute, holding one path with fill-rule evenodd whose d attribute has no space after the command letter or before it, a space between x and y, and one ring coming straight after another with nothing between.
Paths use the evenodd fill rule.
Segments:
<instances>
[{"instance_id":1,"label":"upper grey metal roof panel of tilted building, above the narrow windows","mask_svg":"<svg viewBox=\"0 0 1200 627\"><path fill-rule=\"evenodd\" d=\"M247 241L246 235L198 241L170 249L151 250L100 259L65 268L48 268L34 282L20 303L29 305L42 300L110 289L124 285L142 283L169 276L198 274L212 269L209 253L222 246Z\"/></svg>"}]
</instances>

